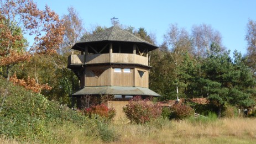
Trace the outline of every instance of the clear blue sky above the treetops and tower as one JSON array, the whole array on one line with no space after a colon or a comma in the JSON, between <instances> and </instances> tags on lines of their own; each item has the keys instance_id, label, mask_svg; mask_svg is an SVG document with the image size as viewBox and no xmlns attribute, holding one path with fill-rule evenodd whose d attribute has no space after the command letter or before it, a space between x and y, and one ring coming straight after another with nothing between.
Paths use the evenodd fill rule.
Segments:
<instances>
[{"instance_id":1,"label":"clear blue sky above the treetops and tower","mask_svg":"<svg viewBox=\"0 0 256 144\"><path fill-rule=\"evenodd\" d=\"M34 0L40 9L47 4L60 16L67 14L68 7L74 7L88 31L93 26L111 26L111 18L116 17L123 25L143 27L156 36L157 44L163 42L163 35L170 24L186 28L189 33L193 25L210 24L220 31L222 43L228 50L235 49L246 54L245 28L248 19L256 20L256 1L253 0L184 0L184 1L68 1Z\"/></svg>"}]
</instances>

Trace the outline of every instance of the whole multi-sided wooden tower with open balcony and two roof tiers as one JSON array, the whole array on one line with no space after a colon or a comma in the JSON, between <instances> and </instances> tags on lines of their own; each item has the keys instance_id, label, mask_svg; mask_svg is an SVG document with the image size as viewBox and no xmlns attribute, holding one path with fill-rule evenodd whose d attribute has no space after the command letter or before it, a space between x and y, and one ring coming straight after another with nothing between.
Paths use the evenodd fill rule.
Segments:
<instances>
[{"instance_id":1,"label":"whole multi-sided wooden tower with open balcony and two roof tiers","mask_svg":"<svg viewBox=\"0 0 256 144\"><path fill-rule=\"evenodd\" d=\"M142 97L159 97L148 88L148 52L158 47L112 26L76 43L72 49L81 55L70 55L68 67L80 79L80 90L74 94L81 107L83 95L113 95L118 101Z\"/></svg>"}]
</instances>

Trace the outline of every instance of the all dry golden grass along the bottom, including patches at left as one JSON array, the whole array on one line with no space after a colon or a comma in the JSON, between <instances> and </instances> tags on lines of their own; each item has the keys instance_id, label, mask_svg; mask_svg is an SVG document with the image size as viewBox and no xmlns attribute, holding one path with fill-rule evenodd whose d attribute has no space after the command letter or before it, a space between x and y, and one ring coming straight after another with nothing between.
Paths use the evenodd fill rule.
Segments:
<instances>
[{"instance_id":1,"label":"all dry golden grass along the bottom, including patches at left","mask_svg":"<svg viewBox=\"0 0 256 144\"><path fill-rule=\"evenodd\" d=\"M120 138L110 143L256 143L256 119L235 118L214 121L157 120L147 125L112 125ZM72 125L53 127L57 141L53 143L104 143L86 136ZM86 129L86 127L85 127ZM0 139L0 143L19 143ZM31 143L31 142L27 142Z\"/></svg>"}]
</instances>

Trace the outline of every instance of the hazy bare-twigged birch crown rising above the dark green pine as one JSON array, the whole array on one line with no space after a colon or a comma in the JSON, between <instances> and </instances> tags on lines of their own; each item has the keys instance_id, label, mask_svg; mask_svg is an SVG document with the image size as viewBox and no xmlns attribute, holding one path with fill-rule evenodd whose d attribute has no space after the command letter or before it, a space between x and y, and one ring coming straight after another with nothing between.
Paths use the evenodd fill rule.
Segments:
<instances>
[{"instance_id":1,"label":"hazy bare-twigged birch crown rising above the dark green pine","mask_svg":"<svg viewBox=\"0 0 256 144\"><path fill-rule=\"evenodd\" d=\"M195 51L197 57L207 57L210 53L210 46L213 42L221 47L223 52L225 48L222 46L221 33L214 30L211 25L201 24L192 26L192 40L194 41Z\"/></svg>"}]
</instances>

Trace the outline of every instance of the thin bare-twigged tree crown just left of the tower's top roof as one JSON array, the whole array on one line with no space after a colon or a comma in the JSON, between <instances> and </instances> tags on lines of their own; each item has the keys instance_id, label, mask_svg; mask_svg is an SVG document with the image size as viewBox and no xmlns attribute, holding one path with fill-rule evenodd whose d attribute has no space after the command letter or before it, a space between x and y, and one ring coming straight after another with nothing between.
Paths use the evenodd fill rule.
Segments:
<instances>
[{"instance_id":1,"label":"thin bare-twigged tree crown just left of the tower's top roof","mask_svg":"<svg viewBox=\"0 0 256 144\"><path fill-rule=\"evenodd\" d=\"M74 46L76 42L79 42L82 35L85 33L82 19L79 17L74 7L69 7L67 10L69 14L64 14L62 17L65 29L63 42L61 44L61 54L71 54L71 47Z\"/></svg>"}]
</instances>

